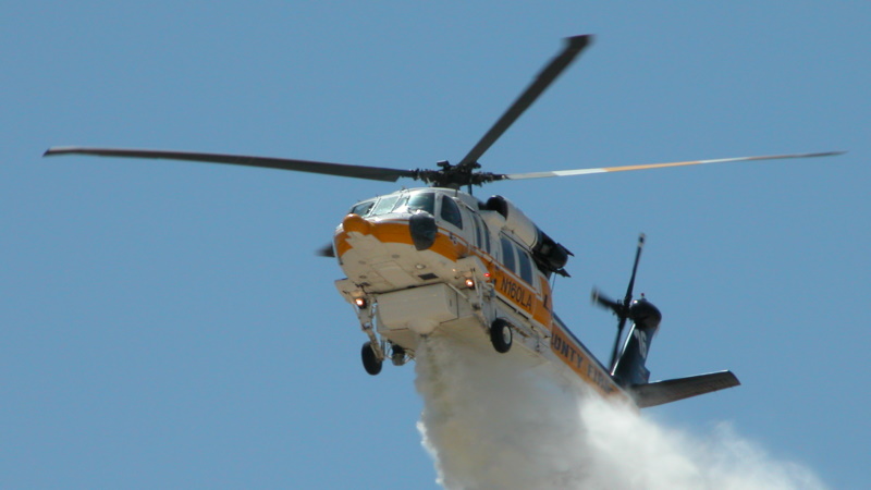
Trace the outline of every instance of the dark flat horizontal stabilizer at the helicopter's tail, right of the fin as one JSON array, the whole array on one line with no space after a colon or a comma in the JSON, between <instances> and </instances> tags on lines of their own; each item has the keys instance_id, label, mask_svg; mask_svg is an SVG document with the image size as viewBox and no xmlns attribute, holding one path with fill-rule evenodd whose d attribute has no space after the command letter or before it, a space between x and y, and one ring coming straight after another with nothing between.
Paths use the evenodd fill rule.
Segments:
<instances>
[{"instance_id":1,"label":"dark flat horizontal stabilizer at the helicopter's tail, right of the fin","mask_svg":"<svg viewBox=\"0 0 871 490\"><path fill-rule=\"evenodd\" d=\"M662 405L740 384L732 371L710 372L689 378L670 379L629 388L639 408Z\"/></svg>"}]
</instances>

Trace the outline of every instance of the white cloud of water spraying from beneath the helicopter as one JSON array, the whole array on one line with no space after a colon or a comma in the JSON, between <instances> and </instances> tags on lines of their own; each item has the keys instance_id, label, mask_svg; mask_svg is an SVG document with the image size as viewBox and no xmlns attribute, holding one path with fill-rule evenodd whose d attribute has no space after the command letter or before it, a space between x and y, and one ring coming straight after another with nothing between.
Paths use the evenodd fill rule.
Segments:
<instances>
[{"instance_id":1,"label":"white cloud of water spraying from beneath the helicopter","mask_svg":"<svg viewBox=\"0 0 871 490\"><path fill-rule=\"evenodd\" d=\"M418 428L445 488L824 488L727 425L704 439L658 426L519 353L433 336L416 370Z\"/></svg>"}]
</instances>

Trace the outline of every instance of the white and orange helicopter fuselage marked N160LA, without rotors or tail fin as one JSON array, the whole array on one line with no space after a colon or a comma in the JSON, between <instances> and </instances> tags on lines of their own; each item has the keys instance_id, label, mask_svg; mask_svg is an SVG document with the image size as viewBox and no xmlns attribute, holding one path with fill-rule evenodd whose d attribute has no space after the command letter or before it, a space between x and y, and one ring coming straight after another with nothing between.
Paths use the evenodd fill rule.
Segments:
<instances>
[{"instance_id":1,"label":"white and orange helicopter fuselage marked N160LA, without rotors or tail fin","mask_svg":"<svg viewBox=\"0 0 871 490\"><path fill-rule=\"evenodd\" d=\"M364 330L367 321L378 323L382 338L407 352L437 330L481 336L503 318L529 354L567 367L604 395L625 395L553 315L553 271L537 252L537 242L550 238L499 199L511 213L438 187L356 204L334 234L347 275L336 281L340 293L357 302Z\"/></svg>"}]
</instances>

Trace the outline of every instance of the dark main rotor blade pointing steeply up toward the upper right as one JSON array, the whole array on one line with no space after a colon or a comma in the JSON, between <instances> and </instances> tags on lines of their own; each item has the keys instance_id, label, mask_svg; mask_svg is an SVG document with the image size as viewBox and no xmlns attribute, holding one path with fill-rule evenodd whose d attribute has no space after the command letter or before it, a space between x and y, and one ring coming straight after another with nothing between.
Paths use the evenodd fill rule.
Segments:
<instances>
[{"instance_id":1,"label":"dark main rotor blade pointing steeply up toward the upper right","mask_svg":"<svg viewBox=\"0 0 871 490\"><path fill-rule=\"evenodd\" d=\"M556 56L547 66L538 74L532 84L520 94L520 97L505 111L499 121L490 127L490 131L475 145L475 148L466 155L458 166L476 163L479 158L493 145L493 143L502 136L520 114L526 111L532 102L563 73L563 70L572 63L572 61L580 53L580 51L589 46L592 41L592 36L573 36L565 39L566 46L563 51Z\"/></svg>"}]
</instances>

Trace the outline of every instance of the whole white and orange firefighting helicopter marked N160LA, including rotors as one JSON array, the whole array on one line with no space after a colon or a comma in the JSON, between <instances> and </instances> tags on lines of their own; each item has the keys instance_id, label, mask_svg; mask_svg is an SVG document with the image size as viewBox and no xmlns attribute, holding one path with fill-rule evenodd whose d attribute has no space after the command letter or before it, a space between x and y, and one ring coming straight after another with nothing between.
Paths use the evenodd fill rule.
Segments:
<instances>
[{"instance_id":1,"label":"whole white and orange firefighting helicopter marked N160LA, including rotors","mask_svg":"<svg viewBox=\"0 0 871 490\"><path fill-rule=\"evenodd\" d=\"M481 201L473 186L504 180L586 175L706 163L838 155L837 151L724 158L640 166L530 173L483 172L479 159L587 48L590 35L565 46L456 164L401 170L284 158L221 154L53 147L45 156L187 160L312 172L375 181L413 179L429 187L401 189L355 204L320 255L334 257L346 274L335 281L368 336L360 351L364 368L378 375L384 360L401 366L432 334L487 341L499 353L523 351L550 362L561 372L603 396L636 406L660 405L739 384L731 371L650 382L645 367L662 315L643 295L633 298L645 236L635 254L629 285L619 301L593 291L592 301L617 317L617 334L608 365L600 363L553 311L550 280L568 277L573 255L502 196ZM467 187L468 192L461 191ZM623 335L628 320L633 327Z\"/></svg>"}]
</instances>

